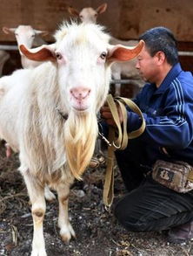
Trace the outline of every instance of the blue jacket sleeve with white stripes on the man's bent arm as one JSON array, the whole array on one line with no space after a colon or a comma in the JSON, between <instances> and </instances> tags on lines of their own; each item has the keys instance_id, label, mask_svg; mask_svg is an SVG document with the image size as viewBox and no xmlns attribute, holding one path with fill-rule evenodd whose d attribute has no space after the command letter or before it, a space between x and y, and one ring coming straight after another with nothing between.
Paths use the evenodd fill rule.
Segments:
<instances>
[{"instance_id":1,"label":"blue jacket sleeve with white stripes on the man's bent arm","mask_svg":"<svg viewBox=\"0 0 193 256\"><path fill-rule=\"evenodd\" d=\"M188 85L190 86L190 85ZM167 92L160 115L145 114L146 128L140 139L161 147L184 149L193 137L193 100L192 89L171 85ZM191 86L190 86L191 87ZM139 95L140 97L140 95ZM140 99L136 99L136 104ZM128 110L129 131L139 128L139 116Z\"/></svg>"}]
</instances>

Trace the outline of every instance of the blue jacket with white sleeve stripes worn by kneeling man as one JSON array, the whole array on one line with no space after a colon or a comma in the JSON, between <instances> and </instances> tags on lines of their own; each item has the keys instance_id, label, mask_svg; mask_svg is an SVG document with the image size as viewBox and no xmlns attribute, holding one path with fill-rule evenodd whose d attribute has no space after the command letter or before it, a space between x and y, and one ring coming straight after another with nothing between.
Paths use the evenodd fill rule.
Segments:
<instances>
[{"instance_id":1,"label":"blue jacket with white sleeve stripes worn by kneeling man","mask_svg":"<svg viewBox=\"0 0 193 256\"><path fill-rule=\"evenodd\" d=\"M158 88L146 84L134 101L146 121L145 131L136 142L143 145L147 163L172 158L193 164L192 74L183 72L178 63ZM139 128L140 124L138 115L128 110L129 130ZM169 155L164 154L163 148Z\"/></svg>"}]
</instances>

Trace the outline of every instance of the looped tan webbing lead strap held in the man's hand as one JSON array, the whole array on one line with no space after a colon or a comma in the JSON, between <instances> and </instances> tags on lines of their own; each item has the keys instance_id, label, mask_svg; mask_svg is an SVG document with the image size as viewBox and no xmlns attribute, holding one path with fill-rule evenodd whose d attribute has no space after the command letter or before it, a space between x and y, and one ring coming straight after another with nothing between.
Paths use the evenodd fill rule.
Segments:
<instances>
[{"instance_id":1,"label":"looped tan webbing lead strap held in the man's hand","mask_svg":"<svg viewBox=\"0 0 193 256\"><path fill-rule=\"evenodd\" d=\"M143 114L139 107L129 99L116 97L113 99L112 95L109 94L107 96L107 102L110 107L110 112L113 116L113 119L116 123L116 128L110 126L109 128L109 141L110 145L108 146L108 156L107 156L107 168L105 173L104 185L103 185L103 203L106 207L110 207L114 197L114 158L115 158L115 150L116 149L125 149L128 145L129 139L134 139L139 135L143 134L145 129L145 121L143 118ZM116 104L119 105L120 110L123 115L123 126L119 120L119 114L117 111ZM126 107L130 107L130 109L138 114L142 119L142 125L140 128L127 133L127 111ZM118 130L118 133L117 133Z\"/></svg>"}]
</instances>

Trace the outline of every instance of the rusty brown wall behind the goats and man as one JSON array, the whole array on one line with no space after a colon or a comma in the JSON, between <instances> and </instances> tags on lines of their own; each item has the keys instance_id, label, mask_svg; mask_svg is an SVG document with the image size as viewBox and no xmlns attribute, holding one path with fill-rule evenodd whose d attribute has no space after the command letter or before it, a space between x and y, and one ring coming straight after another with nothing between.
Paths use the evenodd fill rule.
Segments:
<instances>
[{"instance_id":1,"label":"rusty brown wall behind the goats and man","mask_svg":"<svg viewBox=\"0 0 193 256\"><path fill-rule=\"evenodd\" d=\"M53 33L63 19L70 19L68 6L77 10L96 9L104 2L108 3L107 10L97 21L116 38L138 38L143 31L163 25L170 28L179 41L193 42L192 0L1 0L0 27L31 24ZM14 37L0 30L0 41L5 40L13 41Z\"/></svg>"}]
</instances>

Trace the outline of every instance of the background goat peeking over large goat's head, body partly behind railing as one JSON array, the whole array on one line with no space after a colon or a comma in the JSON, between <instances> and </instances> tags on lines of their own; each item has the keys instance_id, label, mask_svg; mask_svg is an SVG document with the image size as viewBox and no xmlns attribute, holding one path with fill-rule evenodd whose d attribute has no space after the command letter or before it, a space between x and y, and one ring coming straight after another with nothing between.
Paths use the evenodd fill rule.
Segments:
<instances>
[{"instance_id":1,"label":"background goat peeking over large goat's head, body partly behind railing","mask_svg":"<svg viewBox=\"0 0 193 256\"><path fill-rule=\"evenodd\" d=\"M82 22L85 23L97 23L97 16L100 13L103 13L107 9L107 3L103 3L96 10L91 7L85 7L81 11L76 10L73 7L69 7L68 11L71 15L77 16ZM113 37L110 37L111 45L125 45L125 46L135 46L138 44L138 40L119 40ZM138 86L143 86L144 81L136 70L136 59L132 59L129 62L115 63L111 66L112 77L115 80L121 80L121 75L126 76L131 80L136 80ZM121 84L116 84L115 95L119 96L121 94Z\"/></svg>"}]
</instances>

